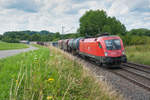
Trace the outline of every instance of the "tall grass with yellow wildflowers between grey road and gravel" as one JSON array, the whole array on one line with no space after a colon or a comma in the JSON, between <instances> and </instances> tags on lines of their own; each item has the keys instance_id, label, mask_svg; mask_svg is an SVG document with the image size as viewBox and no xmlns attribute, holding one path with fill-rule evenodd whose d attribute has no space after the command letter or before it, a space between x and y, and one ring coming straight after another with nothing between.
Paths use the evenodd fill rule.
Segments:
<instances>
[{"instance_id":1,"label":"tall grass with yellow wildflowers between grey road and gravel","mask_svg":"<svg viewBox=\"0 0 150 100\"><path fill-rule=\"evenodd\" d=\"M0 60L0 99L121 100L104 82L54 47Z\"/></svg>"}]
</instances>

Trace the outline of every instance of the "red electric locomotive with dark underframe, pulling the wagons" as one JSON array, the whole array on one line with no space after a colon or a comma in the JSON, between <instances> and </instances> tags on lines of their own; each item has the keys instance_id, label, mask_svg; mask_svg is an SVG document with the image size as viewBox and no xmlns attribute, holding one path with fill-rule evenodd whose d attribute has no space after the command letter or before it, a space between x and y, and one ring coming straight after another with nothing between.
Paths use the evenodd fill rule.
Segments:
<instances>
[{"instance_id":1,"label":"red electric locomotive with dark underframe, pulling the wagons","mask_svg":"<svg viewBox=\"0 0 150 100\"><path fill-rule=\"evenodd\" d=\"M127 61L123 42L118 36L80 39L78 53L100 64L118 65Z\"/></svg>"}]
</instances>

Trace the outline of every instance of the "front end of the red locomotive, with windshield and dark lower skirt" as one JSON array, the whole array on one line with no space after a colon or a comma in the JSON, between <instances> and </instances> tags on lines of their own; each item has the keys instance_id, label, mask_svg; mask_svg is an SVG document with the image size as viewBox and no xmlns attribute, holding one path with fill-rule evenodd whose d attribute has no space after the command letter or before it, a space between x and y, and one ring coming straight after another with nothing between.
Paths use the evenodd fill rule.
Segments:
<instances>
[{"instance_id":1,"label":"front end of the red locomotive, with windshield and dark lower skirt","mask_svg":"<svg viewBox=\"0 0 150 100\"><path fill-rule=\"evenodd\" d=\"M108 65L121 64L127 61L123 42L118 36L103 37L104 59L103 63Z\"/></svg>"}]
</instances>

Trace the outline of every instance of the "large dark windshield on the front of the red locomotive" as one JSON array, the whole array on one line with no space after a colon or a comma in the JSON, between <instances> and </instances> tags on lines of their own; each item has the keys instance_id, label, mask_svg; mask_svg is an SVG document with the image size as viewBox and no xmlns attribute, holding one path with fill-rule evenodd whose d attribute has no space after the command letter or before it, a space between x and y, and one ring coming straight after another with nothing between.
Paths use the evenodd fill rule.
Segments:
<instances>
[{"instance_id":1,"label":"large dark windshield on the front of the red locomotive","mask_svg":"<svg viewBox=\"0 0 150 100\"><path fill-rule=\"evenodd\" d=\"M121 43L119 39L105 40L107 50L120 50Z\"/></svg>"}]
</instances>

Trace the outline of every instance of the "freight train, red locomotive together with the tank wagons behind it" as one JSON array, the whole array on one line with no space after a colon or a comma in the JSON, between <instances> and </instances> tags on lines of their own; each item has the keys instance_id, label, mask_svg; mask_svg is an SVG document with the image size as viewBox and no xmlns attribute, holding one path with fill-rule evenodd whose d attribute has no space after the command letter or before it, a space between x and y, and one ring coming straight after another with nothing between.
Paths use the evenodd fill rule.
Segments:
<instances>
[{"instance_id":1,"label":"freight train, red locomotive together with the tank wagons behind it","mask_svg":"<svg viewBox=\"0 0 150 100\"><path fill-rule=\"evenodd\" d=\"M58 47L100 65L114 66L127 62L123 42L119 36L115 35L105 34L96 38L59 40Z\"/></svg>"}]
</instances>

